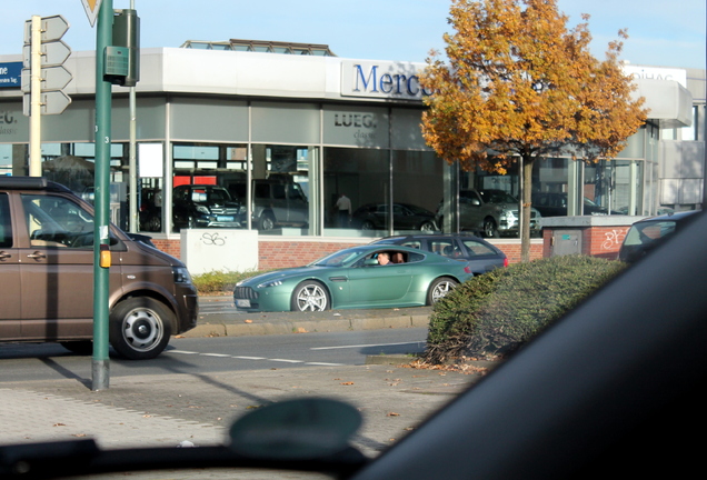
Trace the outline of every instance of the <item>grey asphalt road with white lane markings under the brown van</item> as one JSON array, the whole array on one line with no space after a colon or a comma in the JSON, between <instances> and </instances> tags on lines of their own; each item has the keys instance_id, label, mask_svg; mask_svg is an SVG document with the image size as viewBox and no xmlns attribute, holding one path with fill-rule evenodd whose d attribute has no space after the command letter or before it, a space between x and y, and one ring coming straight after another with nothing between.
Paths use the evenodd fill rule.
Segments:
<instances>
[{"instance_id":1,"label":"grey asphalt road with white lane markings under the brown van","mask_svg":"<svg viewBox=\"0 0 707 480\"><path fill-rule=\"evenodd\" d=\"M418 353L427 329L382 329L256 337L172 338L155 360L112 358L110 376L151 376L341 367L365 364L368 356ZM0 384L23 380L91 378L91 358L56 343L0 344Z\"/></svg>"}]
</instances>

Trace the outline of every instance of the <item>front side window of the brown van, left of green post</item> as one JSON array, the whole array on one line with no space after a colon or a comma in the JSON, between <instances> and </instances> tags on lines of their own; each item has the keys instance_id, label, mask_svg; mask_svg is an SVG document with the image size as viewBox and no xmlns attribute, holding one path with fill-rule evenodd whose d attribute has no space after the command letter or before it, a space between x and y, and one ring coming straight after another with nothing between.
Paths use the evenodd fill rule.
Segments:
<instances>
[{"instance_id":1,"label":"front side window of the brown van, left of green post","mask_svg":"<svg viewBox=\"0 0 707 480\"><path fill-rule=\"evenodd\" d=\"M31 247L92 248L93 217L63 197L23 194Z\"/></svg>"}]
</instances>

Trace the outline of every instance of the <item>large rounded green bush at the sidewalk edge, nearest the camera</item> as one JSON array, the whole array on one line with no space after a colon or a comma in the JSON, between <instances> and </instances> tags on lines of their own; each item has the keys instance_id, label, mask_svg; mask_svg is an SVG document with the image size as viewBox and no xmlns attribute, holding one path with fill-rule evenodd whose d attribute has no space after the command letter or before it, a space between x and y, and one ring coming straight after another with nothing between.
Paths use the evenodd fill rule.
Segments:
<instances>
[{"instance_id":1,"label":"large rounded green bush at the sidewalk edge, nearest the camera","mask_svg":"<svg viewBox=\"0 0 707 480\"><path fill-rule=\"evenodd\" d=\"M509 353L623 268L618 261L562 256L475 277L435 304L425 360Z\"/></svg>"}]
</instances>

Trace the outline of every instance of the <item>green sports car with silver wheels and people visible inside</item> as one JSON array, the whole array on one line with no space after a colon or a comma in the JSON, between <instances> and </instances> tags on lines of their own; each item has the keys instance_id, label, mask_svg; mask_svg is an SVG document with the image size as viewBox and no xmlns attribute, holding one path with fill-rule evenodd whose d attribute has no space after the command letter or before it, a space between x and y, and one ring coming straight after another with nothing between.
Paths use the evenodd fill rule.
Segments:
<instances>
[{"instance_id":1,"label":"green sports car with silver wheels and people visible inside","mask_svg":"<svg viewBox=\"0 0 707 480\"><path fill-rule=\"evenodd\" d=\"M322 311L432 304L474 277L469 262L414 248L369 244L331 253L307 267L239 282L245 311Z\"/></svg>"}]
</instances>

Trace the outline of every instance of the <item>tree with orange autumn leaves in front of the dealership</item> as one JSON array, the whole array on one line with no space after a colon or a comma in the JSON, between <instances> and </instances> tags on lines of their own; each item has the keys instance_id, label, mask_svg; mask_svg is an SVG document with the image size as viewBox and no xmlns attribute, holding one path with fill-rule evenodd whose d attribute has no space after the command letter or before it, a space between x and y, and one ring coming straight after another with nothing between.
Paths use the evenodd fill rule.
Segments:
<instances>
[{"instance_id":1,"label":"tree with orange autumn leaves in front of the dealership","mask_svg":"<svg viewBox=\"0 0 707 480\"><path fill-rule=\"evenodd\" d=\"M448 63L432 52L420 79L434 91L422 134L438 156L498 173L522 160L522 261L535 160L613 159L646 120L644 99L631 99L635 87L621 71L623 42L595 59L588 19L568 29L556 0L451 0Z\"/></svg>"}]
</instances>

